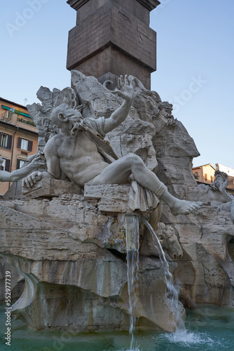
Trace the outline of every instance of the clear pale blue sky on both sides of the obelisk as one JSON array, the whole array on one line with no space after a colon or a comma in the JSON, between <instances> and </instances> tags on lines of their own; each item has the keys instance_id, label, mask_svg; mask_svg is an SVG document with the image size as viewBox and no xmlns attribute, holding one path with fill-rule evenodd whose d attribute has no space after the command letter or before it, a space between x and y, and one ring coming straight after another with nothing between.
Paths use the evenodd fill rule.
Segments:
<instances>
[{"instance_id":1,"label":"clear pale blue sky on both sides of the obelisk","mask_svg":"<svg viewBox=\"0 0 234 351\"><path fill-rule=\"evenodd\" d=\"M233 0L161 0L151 12L158 33L151 90L174 103L174 117L195 140L194 166L234 168L233 18ZM4 1L0 19L2 98L27 105L38 102L41 85L70 85L67 37L76 11L66 0Z\"/></svg>"}]
</instances>

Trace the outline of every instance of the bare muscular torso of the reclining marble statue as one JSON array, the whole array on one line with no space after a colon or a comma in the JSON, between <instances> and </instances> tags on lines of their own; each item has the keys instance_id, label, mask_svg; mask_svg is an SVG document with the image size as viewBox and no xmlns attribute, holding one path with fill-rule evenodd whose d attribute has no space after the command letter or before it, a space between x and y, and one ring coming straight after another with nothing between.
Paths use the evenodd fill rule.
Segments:
<instances>
[{"instance_id":1,"label":"bare muscular torso of the reclining marble statue","mask_svg":"<svg viewBox=\"0 0 234 351\"><path fill-rule=\"evenodd\" d=\"M55 135L46 144L45 154L49 173L57 178L58 170L53 169L55 163L51 162L50 167L49 162L54 155L57 157L56 167L60 167L69 179L82 187L109 165L97 151L95 142L83 131L78 131L76 136L67 136L64 133Z\"/></svg>"}]
</instances>

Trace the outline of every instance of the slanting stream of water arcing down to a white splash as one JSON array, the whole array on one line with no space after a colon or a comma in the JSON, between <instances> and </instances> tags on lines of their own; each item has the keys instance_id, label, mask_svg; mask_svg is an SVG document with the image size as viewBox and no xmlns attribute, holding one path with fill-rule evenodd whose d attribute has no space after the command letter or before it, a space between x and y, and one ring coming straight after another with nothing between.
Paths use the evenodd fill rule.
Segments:
<instances>
[{"instance_id":1,"label":"slanting stream of water arcing down to a white splash","mask_svg":"<svg viewBox=\"0 0 234 351\"><path fill-rule=\"evenodd\" d=\"M152 238L153 238L153 245L156 246L159 252L159 258L160 261L163 265L163 270L165 272L164 275L164 282L167 286L167 303L170 305L170 308L172 310L172 313L174 314L175 322L174 322L174 328L176 331L177 336L179 337L179 334L181 335L181 338L184 337L184 334L187 332L186 327L184 324L184 320L181 317L180 314L180 304L179 304L179 286L176 286L173 282L172 274L170 273L169 270L169 265L167 263L167 259L165 258L165 253L163 251L163 248L160 244L160 241L154 232L153 228L149 224L148 220L145 218L142 218L142 222L146 225L146 227L149 229L149 232L151 232Z\"/></svg>"}]
</instances>

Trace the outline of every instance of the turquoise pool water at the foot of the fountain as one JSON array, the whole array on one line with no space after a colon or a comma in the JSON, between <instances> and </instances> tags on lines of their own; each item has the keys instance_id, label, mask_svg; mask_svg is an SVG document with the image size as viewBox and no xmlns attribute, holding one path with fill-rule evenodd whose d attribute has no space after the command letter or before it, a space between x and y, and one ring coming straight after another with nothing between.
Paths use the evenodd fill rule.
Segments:
<instances>
[{"instance_id":1,"label":"turquoise pool water at the foot of the fountain","mask_svg":"<svg viewBox=\"0 0 234 351\"><path fill-rule=\"evenodd\" d=\"M129 351L128 332L67 333L33 331L24 322L11 322L11 346L5 345L5 305L0 305L1 351ZM198 305L186 312L184 338L174 333L136 332L139 351L233 351L234 309Z\"/></svg>"}]
</instances>

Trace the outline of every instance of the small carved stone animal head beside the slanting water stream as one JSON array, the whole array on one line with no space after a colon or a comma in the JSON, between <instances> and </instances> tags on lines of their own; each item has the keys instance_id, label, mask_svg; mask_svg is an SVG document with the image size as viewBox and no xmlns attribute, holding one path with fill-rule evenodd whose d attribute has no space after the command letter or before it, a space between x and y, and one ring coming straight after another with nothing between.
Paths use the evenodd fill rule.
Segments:
<instances>
[{"instance_id":1,"label":"small carved stone animal head beside the slanting water stream","mask_svg":"<svg viewBox=\"0 0 234 351\"><path fill-rule=\"evenodd\" d=\"M183 251L171 225L164 225L163 223L159 223L159 230L157 231L157 235L160 239L160 243L163 249L167 250L172 259L182 258Z\"/></svg>"}]
</instances>

